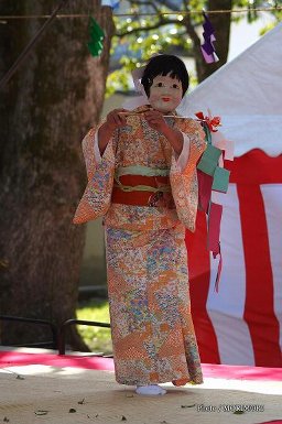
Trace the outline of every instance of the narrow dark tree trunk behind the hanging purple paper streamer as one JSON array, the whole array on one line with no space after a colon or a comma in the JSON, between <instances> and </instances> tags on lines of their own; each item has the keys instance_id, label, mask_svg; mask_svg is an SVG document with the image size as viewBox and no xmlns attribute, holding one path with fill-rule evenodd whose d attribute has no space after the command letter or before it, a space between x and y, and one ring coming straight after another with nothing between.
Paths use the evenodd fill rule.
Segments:
<instances>
[{"instance_id":1,"label":"narrow dark tree trunk behind the hanging purple paper streamer","mask_svg":"<svg viewBox=\"0 0 282 424\"><path fill-rule=\"evenodd\" d=\"M232 0L209 0L208 10L231 10ZM208 11L207 11L208 14ZM216 42L215 51L219 57L218 62L206 64L202 51L200 44L203 40L198 36L195 28L191 22L191 17L187 15L184 20L186 31L189 34L193 41L193 56L196 62L196 73L198 83L202 83L214 72L219 69L226 62L228 57L229 50L229 36L230 36L230 24L231 24L231 13L210 13L209 20L215 29ZM202 30L203 32L204 30Z\"/></svg>"}]
</instances>

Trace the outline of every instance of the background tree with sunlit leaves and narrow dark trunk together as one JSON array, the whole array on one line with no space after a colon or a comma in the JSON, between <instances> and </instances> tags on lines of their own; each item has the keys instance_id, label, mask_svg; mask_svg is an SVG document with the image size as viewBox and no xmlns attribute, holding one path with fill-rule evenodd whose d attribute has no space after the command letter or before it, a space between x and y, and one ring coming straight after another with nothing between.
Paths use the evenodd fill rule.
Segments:
<instances>
[{"instance_id":1,"label":"background tree with sunlit leaves and narrow dark trunk together","mask_svg":"<svg viewBox=\"0 0 282 424\"><path fill-rule=\"evenodd\" d=\"M238 21L247 15L251 23L259 17L260 12L257 9L279 6L279 1L274 0L128 0L128 2L130 13L133 15L115 18L116 34L112 40L112 54L122 51L122 47L124 54L119 59L118 69L108 77L108 95L117 89L128 90L129 73L156 53L173 52L194 57L195 79L200 83L227 62L231 21ZM200 53L203 9L207 13L214 10L226 11L209 14L216 29L216 52L220 57L220 61L215 64L206 64ZM239 9L247 9L248 12L228 12L228 10ZM272 13L276 20L282 15L281 11ZM269 29L270 26L265 31Z\"/></svg>"}]
</instances>

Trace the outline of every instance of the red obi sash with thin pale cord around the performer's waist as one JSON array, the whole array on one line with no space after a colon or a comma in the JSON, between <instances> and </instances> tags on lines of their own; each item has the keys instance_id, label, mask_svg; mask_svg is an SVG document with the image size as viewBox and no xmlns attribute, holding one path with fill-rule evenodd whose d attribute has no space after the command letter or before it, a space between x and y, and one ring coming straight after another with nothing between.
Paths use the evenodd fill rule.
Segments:
<instances>
[{"instance_id":1,"label":"red obi sash with thin pale cord around the performer's waist","mask_svg":"<svg viewBox=\"0 0 282 424\"><path fill-rule=\"evenodd\" d=\"M169 176L121 175L113 185L111 202L131 206L156 206L171 192Z\"/></svg>"}]
</instances>

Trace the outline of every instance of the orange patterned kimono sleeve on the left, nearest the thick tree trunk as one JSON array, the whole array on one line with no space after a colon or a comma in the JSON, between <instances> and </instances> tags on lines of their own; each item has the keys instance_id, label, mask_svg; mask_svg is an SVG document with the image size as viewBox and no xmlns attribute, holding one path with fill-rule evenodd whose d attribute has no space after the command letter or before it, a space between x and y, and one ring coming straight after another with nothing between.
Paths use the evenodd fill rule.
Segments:
<instances>
[{"instance_id":1,"label":"orange patterned kimono sleeve on the left, nearest the thick tree trunk","mask_svg":"<svg viewBox=\"0 0 282 424\"><path fill-rule=\"evenodd\" d=\"M91 129L83 140L88 183L73 218L74 224L88 222L104 216L110 207L115 175L113 139L98 161L94 149L95 133L96 130Z\"/></svg>"}]
</instances>

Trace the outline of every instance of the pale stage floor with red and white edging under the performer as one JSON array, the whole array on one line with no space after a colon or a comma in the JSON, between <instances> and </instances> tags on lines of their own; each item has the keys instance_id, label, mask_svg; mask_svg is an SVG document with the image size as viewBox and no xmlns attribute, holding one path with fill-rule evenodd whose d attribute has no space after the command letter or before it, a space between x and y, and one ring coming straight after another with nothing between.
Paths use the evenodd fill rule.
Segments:
<instances>
[{"instance_id":1,"label":"pale stage floor with red and white edging under the performer","mask_svg":"<svg viewBox=\"0 0 282 424\"><path fill-rule=\"evenodd\" d=\"M204 384L141 396L110 358L0 351L0 423L282 424L282 369L203 365Z\"/></svg>"}]
</instances>

